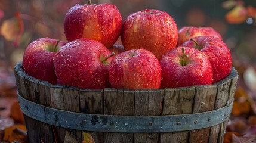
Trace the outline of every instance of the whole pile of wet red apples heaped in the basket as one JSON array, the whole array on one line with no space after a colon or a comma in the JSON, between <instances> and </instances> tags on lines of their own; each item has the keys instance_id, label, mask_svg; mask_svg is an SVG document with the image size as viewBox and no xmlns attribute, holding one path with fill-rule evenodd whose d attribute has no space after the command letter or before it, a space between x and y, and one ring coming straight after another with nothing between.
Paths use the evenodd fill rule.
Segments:
<instances>
[{"instance_id":1,"label":"whole pile of wet red apples heaped in the basket","mask_svg":"<svg viewBox=\"0 0 256 143\"><path fill-rule=\"evenodd\" d=\"M64 18L64 34L67 42L31 42L23 56L24 72L54 85L157 89L211 85L232 69L230 50L217 31L178 30L160 10L132 13L123 23L115 5L74 5ZM116 43L119 36L122 45Z\"/></svg>"}]
</instances>

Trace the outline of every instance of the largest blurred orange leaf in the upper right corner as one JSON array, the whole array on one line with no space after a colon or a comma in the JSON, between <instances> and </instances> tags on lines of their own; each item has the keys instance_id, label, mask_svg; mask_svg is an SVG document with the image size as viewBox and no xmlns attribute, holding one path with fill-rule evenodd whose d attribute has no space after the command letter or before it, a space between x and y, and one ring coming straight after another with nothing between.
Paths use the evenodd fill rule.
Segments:
<instances>
[{"instance_id":1,"label":"largest blurred orange leaf in the upper right corner","mask_svg":"<svg viewBox=\"0 0 256 143\"><path fill-rule=\"evenodd\" d=\"M248 11L243 5L236 5L226 14L225 18L230 24L241 24L248 18Z\"/></svg>"}]
</instances>

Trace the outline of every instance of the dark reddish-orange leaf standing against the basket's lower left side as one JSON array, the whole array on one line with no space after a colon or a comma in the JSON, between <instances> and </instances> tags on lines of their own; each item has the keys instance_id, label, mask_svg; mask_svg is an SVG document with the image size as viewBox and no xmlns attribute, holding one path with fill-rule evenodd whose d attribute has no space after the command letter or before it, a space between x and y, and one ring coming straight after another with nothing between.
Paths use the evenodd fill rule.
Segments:
<instances>
[{"instance_id":1,"label":"dark reddish-orange leaf standing against the basket's lower left side","mask_svg":"<svg viewBox=\"0 0 256 143\"><path fill-rule=\"evenodd\" d=\"M20 110L20 105L18 102L15 102L11 107L11 118L13 118L17 123L25 124L24 116Z\"/></svg>"}]
</instances>

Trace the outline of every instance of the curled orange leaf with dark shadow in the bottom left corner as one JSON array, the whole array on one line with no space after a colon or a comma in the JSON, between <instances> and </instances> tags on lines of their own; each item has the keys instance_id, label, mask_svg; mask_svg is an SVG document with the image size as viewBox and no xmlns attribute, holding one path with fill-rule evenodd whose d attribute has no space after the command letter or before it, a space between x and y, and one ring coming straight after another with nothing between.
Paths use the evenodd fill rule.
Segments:
<instances>
[{"instance_id":1,"label":"curled orange leaf with dark shadow in the bottom left corner","mask_svg":"<svg viewBox=\"0 0 256 143\"><path fill-rule=\"evenodd\" d=\"M24 124L17 124L6 128L4 130L4 141L7 142L27 142L26 126Z\"/></svg>"}]
</instances>

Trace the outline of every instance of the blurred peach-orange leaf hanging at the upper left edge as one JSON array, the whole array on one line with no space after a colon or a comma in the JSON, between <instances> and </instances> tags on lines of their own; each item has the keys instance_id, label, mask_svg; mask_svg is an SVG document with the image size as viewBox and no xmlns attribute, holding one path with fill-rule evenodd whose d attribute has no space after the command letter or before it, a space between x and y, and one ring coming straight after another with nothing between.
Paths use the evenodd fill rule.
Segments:
<instances>
[{"instance_id":1,"label":"blurred peach-orange leaf hanging at the upper left edge","mask_svg":"<svg viewBox=\"0 0 256 143\"><path fill-rule=\"evenodd\" d=\"M4 20L0 29L0 33L7 41L13 42L17 47L20 37L24 32L24 24L21 14L17 12L15 17Z\"/></svg>"}]
</instances>

